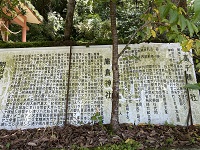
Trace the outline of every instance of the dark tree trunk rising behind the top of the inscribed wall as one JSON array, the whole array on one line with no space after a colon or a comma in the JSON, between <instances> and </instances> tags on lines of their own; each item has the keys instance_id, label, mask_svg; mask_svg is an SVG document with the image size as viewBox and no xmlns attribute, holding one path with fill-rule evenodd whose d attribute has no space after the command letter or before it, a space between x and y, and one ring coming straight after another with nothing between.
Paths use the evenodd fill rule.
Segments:
<instances>
[{"instance_id":1,"label":"dark tree trunk rising behind the top of the inscribed wall","mask_svg":"<svg viewBox=\"0 0 200 150\"><path fill-rule=\"evenodd\" d=\"M67 4L67 15L66 15L65 32L64 32L65 40L70 40L73 27L75 4L76 4L75 0L69 0Z\"/></svg>"}]
</instances>

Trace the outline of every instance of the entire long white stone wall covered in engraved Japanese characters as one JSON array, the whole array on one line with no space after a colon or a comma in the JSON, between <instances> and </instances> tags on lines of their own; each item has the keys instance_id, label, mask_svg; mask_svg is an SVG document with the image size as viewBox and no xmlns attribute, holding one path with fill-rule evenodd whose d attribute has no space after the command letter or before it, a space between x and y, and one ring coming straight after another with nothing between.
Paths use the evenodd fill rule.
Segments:
<instances>
[{"instance_id":1,"label":"entire long white stone wall covered in engraved Japanese characters","mask_svg":"<svg viewBox=\"0 0 200 150\"><path fill-rule=\"evenodd\" d=\"M119 51L124 45L119 46ZM0 49L0 128L110 122L112 46ZM179 44L135 44L119 59L121 123L186 125L185 74L195 83L191 53ZM198 91L190 91L193 121L200 123ZM66 102L68 102L66 104Z\"/></svg>"}]
</instances>

